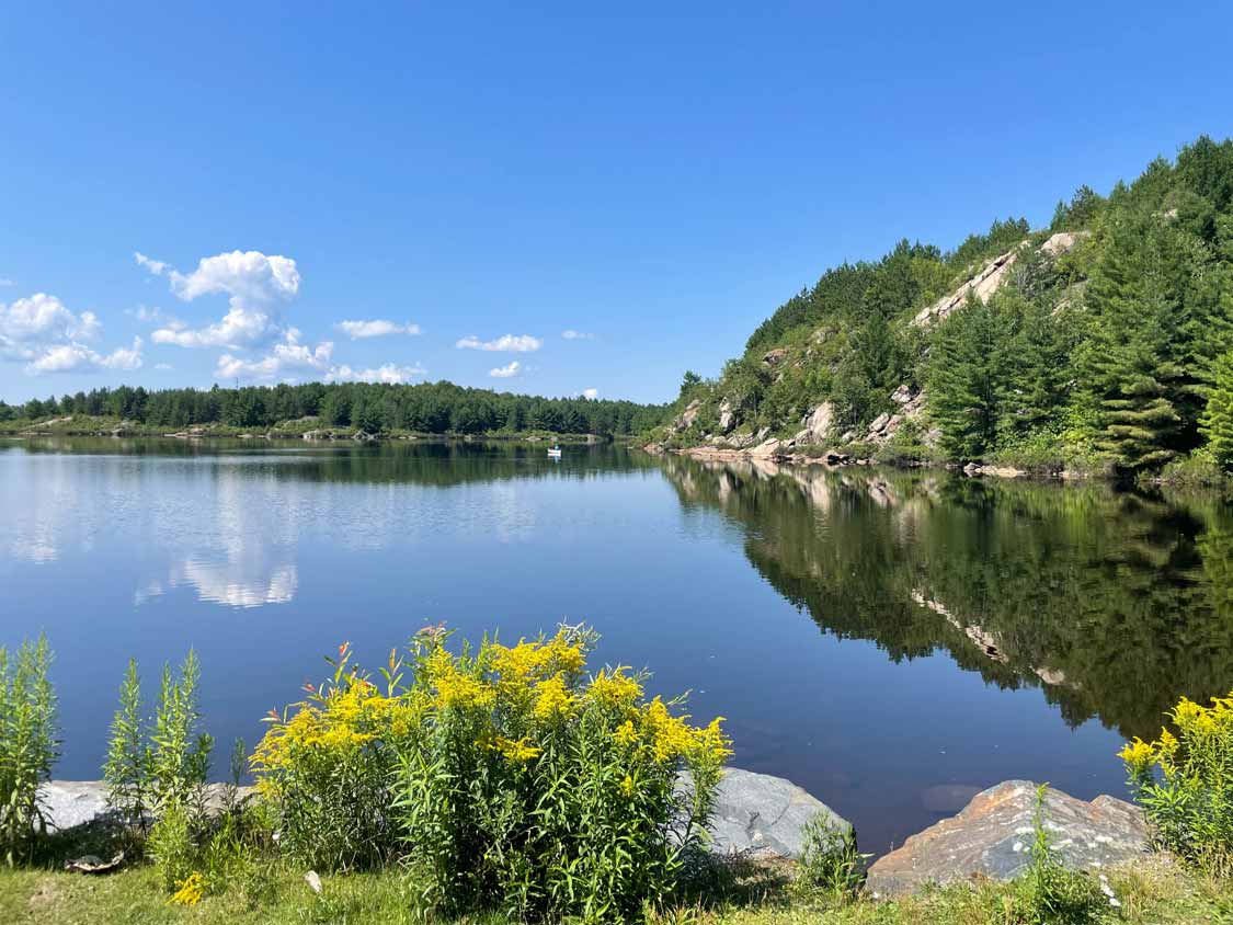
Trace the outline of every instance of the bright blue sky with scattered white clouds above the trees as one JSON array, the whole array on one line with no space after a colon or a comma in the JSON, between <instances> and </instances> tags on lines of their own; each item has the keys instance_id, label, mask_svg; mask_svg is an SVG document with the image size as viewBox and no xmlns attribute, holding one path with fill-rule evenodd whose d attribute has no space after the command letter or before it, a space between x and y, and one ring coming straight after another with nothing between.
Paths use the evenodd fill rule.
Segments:
<instances>
[{"instance_id":1,"label":"bright blue sky with scattered white clouds above the trees","mask_svg":"<svg viewBox=\"0 0 1233 925\"><path fill-rule=\"evenodd\" d=\"M7 401L663 401L835 263L1233 132L1219 4L52 6L0 11Z\"/></svg>"}]
</instances>

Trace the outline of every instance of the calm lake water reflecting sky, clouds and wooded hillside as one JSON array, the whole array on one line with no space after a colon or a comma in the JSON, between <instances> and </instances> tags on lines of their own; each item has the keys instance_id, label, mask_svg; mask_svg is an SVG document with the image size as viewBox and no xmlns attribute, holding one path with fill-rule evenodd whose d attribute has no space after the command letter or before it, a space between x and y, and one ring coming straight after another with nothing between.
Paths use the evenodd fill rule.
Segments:
<instances>
[{"instance_id":1,"label":"calm lake water reflecting sky, clouds and wooded hillside","mask_svg":"<svg viewBox=\"0 0 1233 925\"><path fill-rule=\"evenodd\" d=\"M129 656L195 646L219 740L445 620L586 620L692 688L734 763L883 852L1014 777L1123 793L1115 752L1233 686L1233 511L948 474L614 448L0 442L0 643L57 654L60 777L99 777Z\"/></svg>"}]
</instances>

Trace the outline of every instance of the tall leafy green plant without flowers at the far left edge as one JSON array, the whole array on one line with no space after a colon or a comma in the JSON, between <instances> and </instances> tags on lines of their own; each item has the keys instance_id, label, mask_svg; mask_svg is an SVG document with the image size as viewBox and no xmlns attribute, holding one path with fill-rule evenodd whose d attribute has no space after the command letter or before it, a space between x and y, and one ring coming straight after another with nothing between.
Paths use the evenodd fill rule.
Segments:
<instances>
[{"instance_id":1,"label":"tall leafy green plant without flowers at the far left edge","mask_svg":"<svg viewBox=\"0 0 1233 925\"><path fill-rule=\"evenodd\" d=\"M22 643L15 656L0 649L0 850L9 866L28 858L47 831L38 786L59 756L51 664L44 636Z\"/></svg>"}]
</instances>

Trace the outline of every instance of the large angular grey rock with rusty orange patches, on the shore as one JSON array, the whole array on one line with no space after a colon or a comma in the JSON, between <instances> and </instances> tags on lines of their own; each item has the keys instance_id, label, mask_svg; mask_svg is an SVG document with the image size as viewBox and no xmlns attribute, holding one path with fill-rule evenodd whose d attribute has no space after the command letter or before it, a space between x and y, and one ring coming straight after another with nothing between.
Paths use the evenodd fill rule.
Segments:
<instances>
[{"instance_id":1,"label":"large angular grey rock with rusty orange patches, on the shore","mask_svg":"<svg viewBox=\"0 0 1233 925\"><path fill-rule=\"evenodd\" d=\"M1036 784L1031 781L990 787L957 816L910 836L901 849L878 858L866 886L879 897L889 897L973 874L1014 879L1031 862L1034 813ZM1148 850L1143 814L1113 797L1086 803L1051 788L1044 798L1044 828L1054 855L1075 870L1133 861Z\"/></svg>"}]
</instances>

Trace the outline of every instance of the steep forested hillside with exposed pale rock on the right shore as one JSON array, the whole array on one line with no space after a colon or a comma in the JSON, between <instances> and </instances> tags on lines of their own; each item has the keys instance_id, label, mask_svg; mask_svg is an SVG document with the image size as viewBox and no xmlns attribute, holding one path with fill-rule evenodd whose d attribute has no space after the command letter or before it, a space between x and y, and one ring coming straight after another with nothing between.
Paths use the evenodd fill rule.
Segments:
<instances>
[{"instance_id":1,"label":"steep forested hillside with exposed pale rock on the right shore","mask_svg":"<svg viewBox=\"0 0 1233 925\"><path fill-rule=\"evenodd\" d=\"M716 380L687 372L670 445L1155 471L1233 466L1233 141L1201 137L1047 228L903 240L827 270Z\"/></svg>"}]
</instances>

